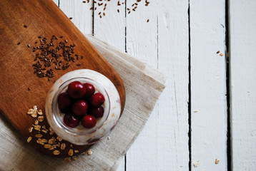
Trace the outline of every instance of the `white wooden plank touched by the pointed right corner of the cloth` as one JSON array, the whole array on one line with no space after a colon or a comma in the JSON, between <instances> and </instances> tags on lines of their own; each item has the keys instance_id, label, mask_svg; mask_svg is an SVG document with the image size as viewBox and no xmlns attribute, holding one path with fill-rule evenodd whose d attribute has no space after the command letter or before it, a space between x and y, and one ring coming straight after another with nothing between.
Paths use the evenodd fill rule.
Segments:
<instances>
[{"instance_id":1,"label":"white wooden plank touched by the pointed right corner of the cloth","mask_svg":"<svg viewBox=\"0 0 256 171\"><path fill-rule=\"evenodd\" d=\"M159 3L159 71L169 77L159 99L159 170L189 170L188 1Z\"/></svg>"}]
</instances>

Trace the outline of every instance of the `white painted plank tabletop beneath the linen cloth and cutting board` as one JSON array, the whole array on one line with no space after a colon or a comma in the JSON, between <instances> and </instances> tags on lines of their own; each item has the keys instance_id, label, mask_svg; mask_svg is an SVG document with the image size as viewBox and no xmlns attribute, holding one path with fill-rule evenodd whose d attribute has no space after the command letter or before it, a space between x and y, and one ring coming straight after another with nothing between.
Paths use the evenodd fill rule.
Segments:
<instances>
[{"instance_id":1,"label":"white painted plank tabletop beneath the linen cloth and cutting board","mask_svg":"<svg viewBox=\"0 0 256 171\"><path fill-rule=\"evenodd\" d=\"M117 13L117 1L112 0L100 19L98 9L92 16L92 4L55 0L81 31L127 50L169 77L118 171L230 170L227 156L232 157L232 170L255 170L256 2L228 4L232 154L227 154L226 1L150 1L128 15L125 6ZM127 7L133 2L127 1Z\"/></svg>"}]
</instances>

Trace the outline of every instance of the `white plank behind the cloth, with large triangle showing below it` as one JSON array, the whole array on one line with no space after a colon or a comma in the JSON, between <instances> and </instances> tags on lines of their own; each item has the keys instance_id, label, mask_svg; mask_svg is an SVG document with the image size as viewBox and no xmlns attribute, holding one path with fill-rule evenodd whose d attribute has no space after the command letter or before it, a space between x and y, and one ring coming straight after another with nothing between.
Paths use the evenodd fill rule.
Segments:
<instances>
[{"instance_id":1,"label":"white plank behind the cloth, with large triangle showing below it","mask_svg":"<svg viewBox=\"0 0 256 171\"><path fill-rule=\"evenodd\" d=\"M131 11L134 2L127 1L127 8ZM127 14L127 53L157 68L157 1L150 1L149 6L144 6L142 1L136 11ZM157 161L162 159L157 149L161 141L157 138L158 114L156 105L142 132L127 152L127 170L158 170Z\"/></svg>"}]
</instances>

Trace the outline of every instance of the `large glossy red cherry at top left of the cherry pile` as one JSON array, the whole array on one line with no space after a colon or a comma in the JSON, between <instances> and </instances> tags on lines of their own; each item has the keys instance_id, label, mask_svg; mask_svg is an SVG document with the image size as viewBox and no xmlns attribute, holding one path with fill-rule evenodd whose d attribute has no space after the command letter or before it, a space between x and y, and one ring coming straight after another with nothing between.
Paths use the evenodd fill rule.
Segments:
<instances>
[{"instance_id":1,"label":"large glossy red cherry at top left of the cherry pile","mask_svg":"<svg viewBox=\"0 0 256 171\"><path fill-rule=\"evenodd\" d=\"M67 88L67 93L69 93L69 96L76 99L82 98L86 92L87 89L79 81L69 83L69 87Z\"/></svg>"}]
</instances>

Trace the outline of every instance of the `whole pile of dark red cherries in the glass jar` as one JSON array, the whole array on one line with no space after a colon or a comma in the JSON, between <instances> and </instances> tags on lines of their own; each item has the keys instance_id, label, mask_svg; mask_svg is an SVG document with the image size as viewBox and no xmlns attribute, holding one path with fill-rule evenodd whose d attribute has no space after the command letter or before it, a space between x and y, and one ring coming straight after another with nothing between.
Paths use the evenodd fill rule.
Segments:
<instances>
[{"instance_id":1,"label":"whole pile of dark red cherries in the glass jar","mask_svg":"<svg viewBox=\"0 0 256 171\"><path fill-rule=\"evenodd\" d=\"M58 96L58 106L64 113L64 124L70 128L76 128L82 122L84 128L94 128L96 118L104 114L105 98L102 93L95 93L95 88L90 83L73 81L69 83L67 92Z\"/></svg>"}]
</instances>

